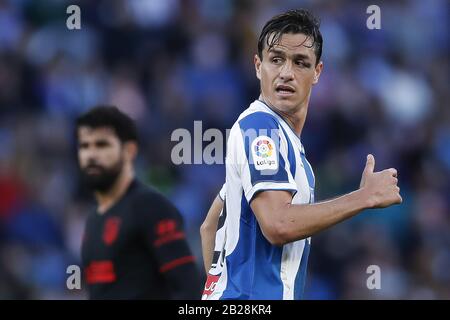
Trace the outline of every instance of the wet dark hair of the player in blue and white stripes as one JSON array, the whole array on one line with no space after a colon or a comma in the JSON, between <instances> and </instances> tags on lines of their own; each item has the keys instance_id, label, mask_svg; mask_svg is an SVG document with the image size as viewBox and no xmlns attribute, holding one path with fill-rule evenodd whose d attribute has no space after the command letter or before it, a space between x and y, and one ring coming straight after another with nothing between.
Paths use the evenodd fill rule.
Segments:
<instances>
[{"instance_id":1,"label":"wet dark hair of the player in blue and white stripes","mask_svg":"<svg viewBox=\"0 0 450 320\"><path fill-rule=\"evenodd\" d=\"M320 21L312 13L305 9L289 10L276 15L263 27L258 39L258 55L262 60L264 45L272 48L280 41L285 33L303 33L313 40L312 47L316 54L316 65L322 56L323 39L319 30ZM273 35L273 37L271 37ZM308 39L307 38L307 39ZM270 43L269 43L270 41Z\"/></svg>"}]
</instances>

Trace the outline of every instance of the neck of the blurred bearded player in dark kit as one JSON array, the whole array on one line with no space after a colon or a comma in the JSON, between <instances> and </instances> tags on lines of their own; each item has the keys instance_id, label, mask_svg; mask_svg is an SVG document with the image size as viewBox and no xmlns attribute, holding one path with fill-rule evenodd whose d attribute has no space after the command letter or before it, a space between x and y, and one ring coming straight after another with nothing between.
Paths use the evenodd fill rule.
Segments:
<instances>
[{"instance_id":1,"label":"neck of the blurred bearded player in dark kit","mask_svg":"<svg viewBox=\"0 0 450 320\"><path fill-rule=\"evenodd\" d=\"M134 171L131 167L125 166L117 177L116 182L112 187L105 191L95 192L95 198L97 200L98 208L97 212L100 214L108 211L120 198L125 194L134 179Z\"/></svg>"}]
</instances>

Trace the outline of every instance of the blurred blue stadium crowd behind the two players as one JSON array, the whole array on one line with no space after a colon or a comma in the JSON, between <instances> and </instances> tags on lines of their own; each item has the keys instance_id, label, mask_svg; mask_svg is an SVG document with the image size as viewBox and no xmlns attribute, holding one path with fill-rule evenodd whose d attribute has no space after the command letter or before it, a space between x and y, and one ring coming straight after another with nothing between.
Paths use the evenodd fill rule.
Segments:
<instances>
[{"instance_id":1,"label":"blurred blue stadium crowd behind the two players","mask_svg":"<svg viewBox=\"0 0 450 320\"><path fill-rule=\"evenodd\" d=\"M66 7L81 8L81 30ZM288 8L322 20L324 72L302 133L316 199L359 186L367 153L395 167L404 202L313 237L310 299L450 299L449 3L378 1L0 0L0 298L72 299L66 267L92 198L80 185L73 120L96 104L136 119L138 175L199 226L223 165L172 163L171 133L225 132L257 98L262 25ZM366 269L381 268L381 290Z\"/></svg>"}]
</instances>

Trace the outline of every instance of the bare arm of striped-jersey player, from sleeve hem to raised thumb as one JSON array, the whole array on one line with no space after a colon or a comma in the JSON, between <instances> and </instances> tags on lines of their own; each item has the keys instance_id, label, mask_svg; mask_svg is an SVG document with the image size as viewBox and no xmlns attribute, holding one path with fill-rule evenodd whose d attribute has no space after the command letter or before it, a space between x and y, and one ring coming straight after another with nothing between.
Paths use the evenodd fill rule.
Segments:
<instances>
[{"instance_id":1,"label":"bare arm of striped-jersey player, from sleeve hem to raised thumb","mask_svg":"<svg viewBox=\"0 0 450 320\"><path fill-rule=\"evenodd\" d=\"M317 204L292 204L288 191L267 190L250 202L266 239L283 245L304 239L368 208L402 203L394 168L374 172L375 159L367 156L360 188L339 198Z\"/></svg>"}]
</instances>

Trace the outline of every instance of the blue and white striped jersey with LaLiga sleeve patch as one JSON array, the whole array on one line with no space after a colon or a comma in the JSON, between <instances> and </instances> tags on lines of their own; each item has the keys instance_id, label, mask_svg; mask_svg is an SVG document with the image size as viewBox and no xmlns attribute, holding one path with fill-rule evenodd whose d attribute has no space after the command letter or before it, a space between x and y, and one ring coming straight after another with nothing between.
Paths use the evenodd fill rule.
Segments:
<instances>
[{"instance_id":1,"label":"blue and white striped jersey with LaLiga sleeve patch","mask_svg":"<svg viewBox=\"0 0 450 320\"><path fill-rule=\"evenodd\" d=\"M224 209L203 299L302 298L311 239L270 244L250 207L263 190L287 190L293 204L314 202L314 174L299 137L256 100L228 138Z\"/></svg>"}]
</instances>

